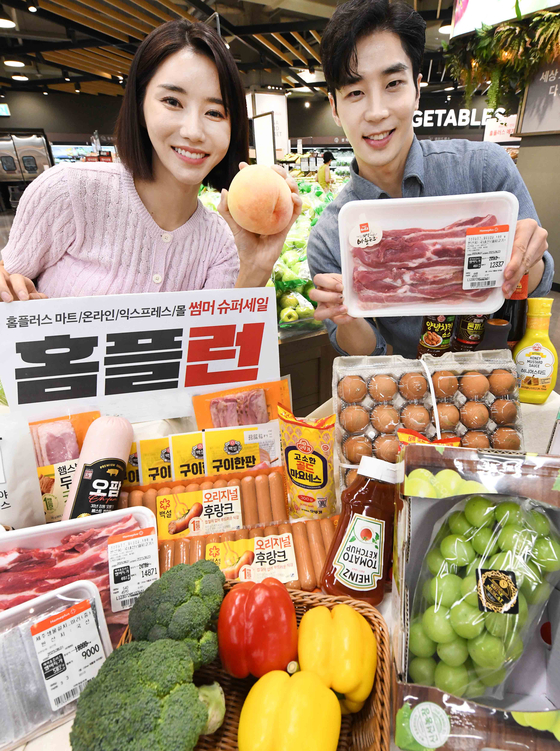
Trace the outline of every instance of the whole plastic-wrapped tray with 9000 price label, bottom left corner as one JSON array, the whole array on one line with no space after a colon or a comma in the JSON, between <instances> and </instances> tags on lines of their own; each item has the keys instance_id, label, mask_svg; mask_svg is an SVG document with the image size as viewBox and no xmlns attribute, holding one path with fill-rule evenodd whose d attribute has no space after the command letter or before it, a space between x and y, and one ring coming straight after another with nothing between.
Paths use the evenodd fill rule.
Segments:
<instances>
[{"instance_id":1,"label":"whole plastic-wrapped tray with 9000 price label, bottom left corner","mask_svg":"<svg viewBox=\"0 0 560 751\"><path fill-rule=\"evenodd\" d=\"M1 751L73 717L80 693L111 652L99 591L90 581L1 613Z\"/></svg>"}]
</instances>

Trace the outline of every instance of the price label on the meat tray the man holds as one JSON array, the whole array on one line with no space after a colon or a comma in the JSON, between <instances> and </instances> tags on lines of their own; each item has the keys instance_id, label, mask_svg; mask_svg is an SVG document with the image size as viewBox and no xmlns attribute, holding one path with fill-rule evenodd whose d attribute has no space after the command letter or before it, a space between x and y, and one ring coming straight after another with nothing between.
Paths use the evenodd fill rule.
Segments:
<instances>
[{"instance_id":1,"label":"price label on the meat tray the man holds","mask_svg":"<svg viewBox=\"0 0 560 751\"><path fill-rule=\"evenodd\" d=\"M490 289L503 283L509 226L467 230L463 289Z\"/></svg>"}]
</instances>

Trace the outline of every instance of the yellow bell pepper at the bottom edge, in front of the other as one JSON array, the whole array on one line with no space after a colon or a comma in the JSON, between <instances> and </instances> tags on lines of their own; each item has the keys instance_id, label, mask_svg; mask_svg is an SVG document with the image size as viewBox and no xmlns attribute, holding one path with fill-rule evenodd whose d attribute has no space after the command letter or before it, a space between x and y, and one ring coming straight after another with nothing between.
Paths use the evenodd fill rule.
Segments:
<instances>
[{"instance_id":1,"label":"yellow bell pepper at the bottom edge, in front of the other","mask_svg":"<svg viewBox=\"0 0 560 751\"><path fill-rule=\"evenodd\" d=\"M273 670L249 691L239 718L239 751L336 751L340 707L314 673Z\"/></svg>"}]
</instances>

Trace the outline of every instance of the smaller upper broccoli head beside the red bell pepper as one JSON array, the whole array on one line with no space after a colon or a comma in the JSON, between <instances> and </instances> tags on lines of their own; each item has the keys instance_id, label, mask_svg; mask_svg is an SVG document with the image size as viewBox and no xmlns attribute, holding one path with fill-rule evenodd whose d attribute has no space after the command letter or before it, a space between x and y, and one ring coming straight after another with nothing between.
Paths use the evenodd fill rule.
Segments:
<instances>
[{"instance_id":1,"label":"smaller upper broccoli head beside the red bell pepper","mask_svg":"<svg viewBox=\"0 0 560 751\"><path fill-rule=\"evenodd\" d=\"M136 600L129 626L136 641L186 642L194 668L218 655L212 621L220 612L225 576L213 561L181 563L166 571Z\"/></svg>"}]
</instances>

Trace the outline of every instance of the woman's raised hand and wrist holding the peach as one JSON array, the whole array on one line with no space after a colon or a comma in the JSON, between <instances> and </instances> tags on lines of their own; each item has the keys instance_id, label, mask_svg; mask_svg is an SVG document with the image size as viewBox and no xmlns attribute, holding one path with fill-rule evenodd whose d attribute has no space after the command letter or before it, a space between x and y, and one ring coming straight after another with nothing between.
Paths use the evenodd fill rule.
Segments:
<instances>
[{"instance_id":1,"label":"woman's raised hand and wrist holding the peach","mask_svg":"<svg viewBox=\"0 0 560 751\"><path fill-rule=\"evenodd\" d=\"M246 162L241 162L239 169L247 167ZM288 173L282 167L274 165L272 169L286 180L291 192L293 202L292 218L288 226L275 235L257 235L248 232L234 221L227 206L227 190L222 190L222 196L218 211L228 223L237 251L239 253L240 270L236 287L264 287L272 274L272 267L278 260L286 235L290 231L295 220L301 214L302 201L297 189L296 181L288 177Z\"/></svg>"}]
</instances>

